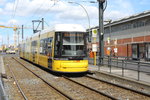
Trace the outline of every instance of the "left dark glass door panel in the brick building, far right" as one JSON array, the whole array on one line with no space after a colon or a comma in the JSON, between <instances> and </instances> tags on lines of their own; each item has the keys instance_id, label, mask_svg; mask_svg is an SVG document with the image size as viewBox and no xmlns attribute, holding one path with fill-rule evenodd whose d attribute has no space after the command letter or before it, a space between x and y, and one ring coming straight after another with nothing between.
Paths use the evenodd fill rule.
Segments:
<instances>
[{"instance_id":1,"label":"left dark glass door panel in the brick building, far right","mask_svg":"<svg viewBox=\"0 0 150 100\"><path fill-rule=\"evenodd\" d=\"M139 58L138 44L132 44L132 59L137 60Z\"/></svg>"}]
</instances>

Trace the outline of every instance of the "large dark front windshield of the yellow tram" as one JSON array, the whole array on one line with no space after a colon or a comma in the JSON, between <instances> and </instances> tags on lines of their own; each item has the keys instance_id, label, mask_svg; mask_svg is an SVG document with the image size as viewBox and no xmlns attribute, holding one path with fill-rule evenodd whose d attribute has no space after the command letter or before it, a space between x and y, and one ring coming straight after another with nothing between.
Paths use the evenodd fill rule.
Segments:
<instances>
[{"instance_id":1,"label":"large dark front windshield of the yellow tram","mask_svg":"<svg viewBox=\"0 0 150 100\"><path fill-rule=\"evenodd\" d=\"M59 56L61 57L86 56L85 33L81 32L58 33L56 43L59 45L59 46L57 45L58 53L55 52L56 55L59 54Z\"/></svg>"}]
</instances>

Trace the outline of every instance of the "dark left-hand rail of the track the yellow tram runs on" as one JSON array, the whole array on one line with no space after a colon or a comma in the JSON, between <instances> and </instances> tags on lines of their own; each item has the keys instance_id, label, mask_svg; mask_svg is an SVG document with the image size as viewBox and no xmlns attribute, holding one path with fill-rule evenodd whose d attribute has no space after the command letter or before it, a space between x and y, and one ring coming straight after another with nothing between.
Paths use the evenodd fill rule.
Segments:
<instances>
[{"instance_id":1,"label":"dark left-hand rail of the track the yellow tram runs on","mask_svg":"<svg viewBox=\"0 0 150 100\"><path fill-rule=\"evenodd\" d=\"M108 94L105 94L105 93L103 93L103 92L100 92L100 91L98 91L98 90L96 90L96 89L90 88L90 87L88 87L88 86L86 86L86 85L83 85L83 84L81 84L81 83L79 83L79 82L77 82L77 81L74 81L74 80L72 80L72 79L70 79L70 78L68 78L68 77L66 77L66 76L63 76L63 78L65 78L65 79L67 79L67 80L69 80L69 81L72 81L72 82L74 82L74 83L76 83L76 84L78 84L78 85L81 85L81 86L83 86L83 87L85 87L85 88L87 88L87 89L89 89L89 90L91 90L91 91L94 91L94 92L96 92L96 93L99 93L100 95L103 95L103 96L105 96L105 97L108 97L108 98L110 98L110 99L112 99L112 100L119 100L119 99L117 99L117 98L114 98L114 97L111 96L111 95L108 95Z\"/></svg>"}]
</instances>

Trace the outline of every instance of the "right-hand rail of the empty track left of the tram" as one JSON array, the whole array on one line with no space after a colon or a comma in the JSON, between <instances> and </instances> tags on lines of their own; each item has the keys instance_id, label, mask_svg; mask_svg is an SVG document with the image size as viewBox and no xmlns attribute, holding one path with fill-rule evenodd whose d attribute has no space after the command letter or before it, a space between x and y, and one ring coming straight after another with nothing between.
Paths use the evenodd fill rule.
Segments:
<instances>
[{"instance_id":1,"label":"right-hand rail of the empty track left of the tram","mask_svg":"<svg viewBox=\"0 0 150 100\"><path fill-rule=\"evenodd\" d=\"M66 98L68 98L69 100L74 100L70 95L65 94L62 90L58 89L56 86L53 86L52 84L50 84L49 82L47 82L46 80L44 80L42 77L38 76L36 73L34 73L33 71L31 71L29 68L27 68L23 63L21 63L20 61L18 61L17 59L15 59L14 57L12 57L15 61L17 61L20 65L22 65L24 68L26 68L28 71L30 71L32 74L34 74L36 77L38 77L39 79L41 79L44 83L46 83L48 86L52 87L54 90L56 90L57 92L59 92L61 95L65 96Z\"/></svg>"}]
</instances>

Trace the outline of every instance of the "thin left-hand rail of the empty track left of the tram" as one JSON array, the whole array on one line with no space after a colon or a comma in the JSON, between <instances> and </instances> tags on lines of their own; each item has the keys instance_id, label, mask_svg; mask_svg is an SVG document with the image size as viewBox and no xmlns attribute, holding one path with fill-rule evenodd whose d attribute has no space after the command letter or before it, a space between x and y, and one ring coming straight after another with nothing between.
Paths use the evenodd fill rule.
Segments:
<instances>
[{"instance_id":1,"label":"thin left-hand rail of the empty track left of the tram","mask_svg":"<svg viewBox=\"0 0 150 100\"><path fill-rule=\"evenodd\" d=\"M14 72L12 71L12 69L10 68L9 65L7 65L7 66L8 66L8 68L9 68L9 70L10 70L12 76L13 76L13 79L14 79L15 82L16 82L16 85L17 85L19 91L21 92L21 95L23 96L23 98L24 98L25 100L28 100L27 96L25 95L25 93L23 92L23 90L21 89L21 87L20 87L20 85L19 85L19 83L18 83L18 81L17 81Z\"/></svg>"}]
</instances>

